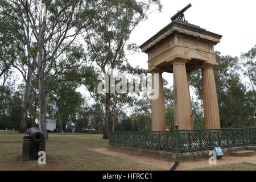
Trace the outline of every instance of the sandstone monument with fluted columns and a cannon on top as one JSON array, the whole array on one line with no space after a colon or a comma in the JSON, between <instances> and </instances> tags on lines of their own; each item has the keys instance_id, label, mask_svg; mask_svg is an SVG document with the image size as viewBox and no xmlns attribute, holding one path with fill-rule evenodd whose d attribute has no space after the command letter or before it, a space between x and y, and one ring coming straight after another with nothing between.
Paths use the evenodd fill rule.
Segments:
<instances>
[{"instance_id":1,"label":"sandstone monument with fluted columns and a cannon on top","mask_svg":"<svg viewBox=\"0 0 256 182\"><path fill-rule=\"evenodd\" d=\"M205 129L220 129L220 115L213 67L216 67L214 46L220 42L221 35L188 23L183 10L172 16L172 22L148 39L139 48L148 55L148 72L158 76L159 97L152 100L152 131L165 130L166 117L164 109L162 73L174 76L174 110L175 126L180 130L192 130L192 110L188 77L193 71L201 69L203 77L203 102Z\"/></svg>"}]
</instances>

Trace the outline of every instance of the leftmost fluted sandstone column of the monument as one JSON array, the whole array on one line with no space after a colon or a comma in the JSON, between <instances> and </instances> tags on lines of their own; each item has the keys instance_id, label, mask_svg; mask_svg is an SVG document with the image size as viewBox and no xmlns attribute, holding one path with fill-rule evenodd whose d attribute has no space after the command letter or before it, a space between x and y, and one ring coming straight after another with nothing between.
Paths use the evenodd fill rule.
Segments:
<instances>
[{"instance_id":1,"label":"leftmost fluted sandstone column of the monument","mask_svg":"<svg viewBox=\"0 0 256 182\"><path fill-rule=\"evenodd\" d=\"M156 79L156 80L155 80ZM166 111L164 108L163 78L162 72L152 73L152 89L157 96L151 100L152 104L152 131L166 130Z\"/></svg>"}]
</instances>

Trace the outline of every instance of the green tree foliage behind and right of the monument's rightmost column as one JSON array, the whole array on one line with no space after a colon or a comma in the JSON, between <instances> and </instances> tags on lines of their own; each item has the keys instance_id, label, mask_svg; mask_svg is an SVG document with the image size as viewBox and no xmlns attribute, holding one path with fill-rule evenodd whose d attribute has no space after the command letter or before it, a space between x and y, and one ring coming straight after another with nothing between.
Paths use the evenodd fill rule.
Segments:
<instances>
[{"instance_id":1,"label":"green tree foliage behind and right of the monument's rightmost column","mask_svg":"<svg viewBox=\"0 0 256 182\"><path fill-rule=\"evenodd\" d=\"M244 54L248 59L253 59L253 50ZM222 56L220 52L216 52L216 60L218 66L213 69L216 82L216 90L218 96L218 107L220 111L221 127L253 127L255 126L255 96L254 90L250 90L241 80L241 70L245 65L241 64L238 57ZM255 64L255 60L251 63ZM253 80L255 72L250 72L251 80ZM189 79L189 84L199 98L203 100L201 71L195 71ZM193 105L192 105L193 107ZM195 109L198 106L195 106ZM203 126L203 112L201 109L193 109L193 119L197 126ZM201 112L201 113L200 113Z\"/></svg>"}]
</instances>

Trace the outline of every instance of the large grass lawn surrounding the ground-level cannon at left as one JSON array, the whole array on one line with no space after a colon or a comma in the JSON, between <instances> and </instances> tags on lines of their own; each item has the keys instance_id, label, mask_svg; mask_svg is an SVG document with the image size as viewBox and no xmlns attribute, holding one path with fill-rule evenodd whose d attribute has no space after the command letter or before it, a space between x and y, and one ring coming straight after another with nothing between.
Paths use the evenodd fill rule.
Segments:
<instances>
[{"instance_id":1,"label":"large grass lawn surrounding the ground-level cannon at left","mask_svg":"<svg viewBox=\"0 0 256 182\"><path fill-rule=\"evenodd\" d=\"M23 136L18 131L0 130L0 170L160 170L89 150L108 146L109 140L100 134L49 133L47 164L23 162Z\"/></svg>"}]
</instances>

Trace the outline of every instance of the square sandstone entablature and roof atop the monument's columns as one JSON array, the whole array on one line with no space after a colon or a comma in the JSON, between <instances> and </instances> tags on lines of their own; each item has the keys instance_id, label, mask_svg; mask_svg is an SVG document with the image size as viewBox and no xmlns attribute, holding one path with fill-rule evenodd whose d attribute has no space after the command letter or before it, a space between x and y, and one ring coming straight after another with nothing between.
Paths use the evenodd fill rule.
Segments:
<instances>
[{"instance_id":1,"label":"square sandstone entablature and roof atop the monument's columns","mask_svg":"<svg viewBox=\"0 0 256 182\"><path fill-rule=\"evenodd\" d=\"M187 57L187 72L200 69L204 64L218 65L213 46L221 35L190 23L173 21L143 43L140 48L148 54L148 72L163 69L172 73L172 59Z\"/></svg>"}]
</instances>

